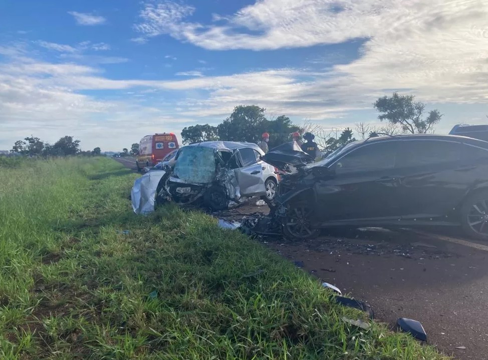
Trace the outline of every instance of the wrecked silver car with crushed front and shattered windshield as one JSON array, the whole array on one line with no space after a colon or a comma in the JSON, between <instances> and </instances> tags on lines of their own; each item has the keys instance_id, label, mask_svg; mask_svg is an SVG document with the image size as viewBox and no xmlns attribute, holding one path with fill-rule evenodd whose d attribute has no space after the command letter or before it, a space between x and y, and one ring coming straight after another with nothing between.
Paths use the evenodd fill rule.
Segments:
<instances>
[{"instance_id":1,"label":"wrecked silver car with crushed front and shattered windshield","mask_svg":"<svg viewBox=\"0 0 488 360\"><path fill-rule=\"evenodd\" d=\"M173 166L163 174L158 172L161 178L157 186L154 181L139 181L138 185L148 184L152 188L133 189L133 194L154 194L155 206L171 201L183 206L207 206L212 210L234 207L254 196L272 200L279 176L275 167L261 160L263 155L258 145L251 143L191 144L178 151ZM137 205L137 208L142 207L140 202Z\"/></svg>"}]
</instances>

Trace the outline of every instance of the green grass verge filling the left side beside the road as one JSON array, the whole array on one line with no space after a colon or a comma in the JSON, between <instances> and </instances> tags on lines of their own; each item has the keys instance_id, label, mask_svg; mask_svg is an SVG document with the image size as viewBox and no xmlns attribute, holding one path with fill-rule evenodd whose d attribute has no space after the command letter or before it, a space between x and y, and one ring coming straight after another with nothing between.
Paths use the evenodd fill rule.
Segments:
<instances>
[{"instance_id":1,"label":"green grass verge filling the left side beside the road","mask_svg":"<svg viewBox=\"0 0 488 360\"><path fill-rule=\"evenodd\" d=\"M104 158L0 167L0 358L445 358L345 323L364 315L207 215L133 214L136 177Z\"/></svg>"}]
</instances>

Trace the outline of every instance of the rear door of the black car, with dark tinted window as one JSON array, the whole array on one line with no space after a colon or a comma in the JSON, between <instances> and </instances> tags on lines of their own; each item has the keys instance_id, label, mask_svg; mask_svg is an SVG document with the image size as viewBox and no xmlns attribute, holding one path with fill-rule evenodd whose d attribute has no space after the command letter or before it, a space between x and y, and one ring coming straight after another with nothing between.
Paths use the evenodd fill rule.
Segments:
<instances>
[{"instance_id":1,"label":"rear door of the black car, with dark tinted window","mask_svg":"<svg viewBox=\"0 0 488 360\"><path fill-rule=\"evenodd\" d=\"M404 219L445 217L472 184L458 141L402 140L395 167Z\"/></svg>"}]
</instances>

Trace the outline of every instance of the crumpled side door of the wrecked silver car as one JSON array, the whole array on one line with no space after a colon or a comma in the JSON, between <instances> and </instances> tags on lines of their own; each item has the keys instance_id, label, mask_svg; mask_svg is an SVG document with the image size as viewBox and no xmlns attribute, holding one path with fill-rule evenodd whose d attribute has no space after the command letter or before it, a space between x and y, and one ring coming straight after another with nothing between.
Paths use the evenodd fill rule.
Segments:
<instances>
[{"instance_id":1,"label":"crumpled side door of the wrecked silver car","mask_svg":"<svg viewBox=\"0 0 488 360\"><path fill-rule=\"evenodd\" d=\"M238 149L242 166L234 169L241 196L261 196L266 194L263 179L263 164L252 148Z\"/></svg>"}]
</instances>

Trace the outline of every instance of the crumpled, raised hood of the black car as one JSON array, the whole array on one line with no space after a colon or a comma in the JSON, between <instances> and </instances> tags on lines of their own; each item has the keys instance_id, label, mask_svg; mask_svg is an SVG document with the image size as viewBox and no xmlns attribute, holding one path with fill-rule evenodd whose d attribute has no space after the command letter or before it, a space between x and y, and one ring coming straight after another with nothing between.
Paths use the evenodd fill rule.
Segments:
<instances>
[{"instance_id":1,"label":"crumpled, raised hood of the black car","mask_svg":"<svg viewBox=\"0 0 488 360\"><path fill-rule=\"evenodd\" d=\"M305 166L313 160L309 154L300 148L296 141L271 149L261 159L282 171L288 171L289 165L295 167Z\"/></svg>"}]
</instances>

